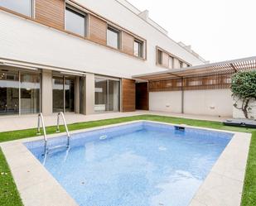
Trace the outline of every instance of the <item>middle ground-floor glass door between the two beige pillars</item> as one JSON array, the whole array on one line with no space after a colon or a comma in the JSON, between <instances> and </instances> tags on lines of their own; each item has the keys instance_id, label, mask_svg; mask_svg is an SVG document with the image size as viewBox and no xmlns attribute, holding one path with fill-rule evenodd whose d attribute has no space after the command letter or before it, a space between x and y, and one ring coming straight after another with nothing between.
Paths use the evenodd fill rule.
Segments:
<instances>
[{"instance_id":1,"label":"middle ground-floor glass door between the two beige pillars","mask_svg":"<svg viewBox=\"0 0 256 206\"><path fill-rule=\"evenodd\" d=\"M53 113L75 112L75 77L53 76Z\"/></svg>"}]
</instances>

